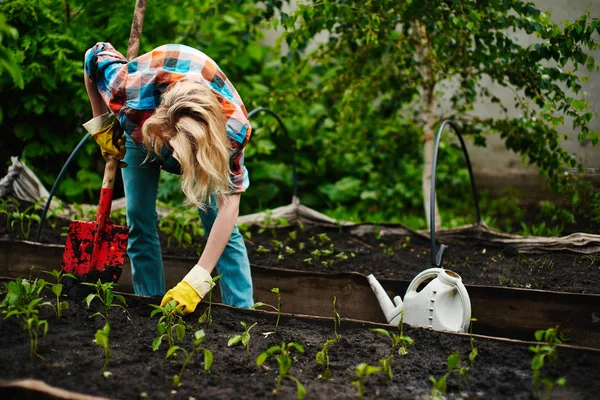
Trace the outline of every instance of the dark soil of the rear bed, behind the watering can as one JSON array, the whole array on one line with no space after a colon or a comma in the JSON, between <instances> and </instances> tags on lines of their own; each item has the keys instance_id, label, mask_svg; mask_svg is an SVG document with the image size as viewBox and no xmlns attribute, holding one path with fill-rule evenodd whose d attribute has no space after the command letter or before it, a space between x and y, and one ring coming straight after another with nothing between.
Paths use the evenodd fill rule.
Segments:
<instances>
[{"instance_id":1,"label":"dark soil of the rear bed, behind the watering can","mask_svg":"<svg viewBox=\"0 0 600 400\"><path fill-rule=\"evenodd\" d=\"M54 219L53 226L46 224L41 242L64 244L68 224L69 221L60 219ZM250 262L264 267L359 272L407 281L431 267L430 241L418 235L356 236L349 233L349 228L340 230L309 225L300 228L297 225L277 229L250 228L246 240ZM29 240L34 239L36 230L37 223L33 222ZM325 236L319 238L320 234ZM169 241L162 232L159 235L163 254L180 257L198 257L205 240L196 237L193 241L198 243L197 247L181 248L174 246L175 241ZM0 240L24 238L18 223L12 229L6 229L6 218L0 215ZM467 285L600 293L600 253L521 254L514 247L490 246L477 238L445 244L449 249L442 266L458 273ZM312 254L315 250L332 252L317 257Z\"/></svg>"}]
</instances>

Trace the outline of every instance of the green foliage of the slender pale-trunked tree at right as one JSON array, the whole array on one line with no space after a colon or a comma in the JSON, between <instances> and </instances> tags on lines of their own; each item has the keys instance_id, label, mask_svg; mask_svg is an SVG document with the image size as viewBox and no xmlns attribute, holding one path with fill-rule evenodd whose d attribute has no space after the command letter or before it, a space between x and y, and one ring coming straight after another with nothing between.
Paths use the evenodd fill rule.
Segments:
<instances>
[{"instance_id":1,"label":"green foliage of the slender pale-trunked tree at right","mask_svg":"<svg viewBox=\"0 0 600 400\"><path fill-rule=\"evenodd\" d=\"M582 92L582 70L597 69L590 52L598 48L600 20L589 12L559 25L532 3L516 0L320 0L299 4L280 22L288 58L300 70L327 70L318 83L322 93L307 96L334 98L334 115L344 124L364 121L374 103L394 112L446 83L452 113L443 117L459 120L477 144L485 144L484 134L500 134L558 189L567 167L581 168L561 146L563 130L576 132L580 142L598 142ZM532 44L518 41L523 33ZM307 51L324 34L328 39ZM513 104L490 92L486 81L514 91L518 116L509 115ZM503 115L471 115L486 100Z\"/></svg>"}]
</instances>

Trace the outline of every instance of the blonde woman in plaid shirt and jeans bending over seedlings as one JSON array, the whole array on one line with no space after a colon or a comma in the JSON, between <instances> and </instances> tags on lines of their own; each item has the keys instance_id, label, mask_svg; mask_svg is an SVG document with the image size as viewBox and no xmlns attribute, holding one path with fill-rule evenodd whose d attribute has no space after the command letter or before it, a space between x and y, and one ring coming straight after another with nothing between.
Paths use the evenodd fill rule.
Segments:
<instances>
[{"instance_id":1,"label":"blonde woman in plaid shirt and jeans bending over seedlings","mask_svg":"<svg viewBox=\"0 0 600 400\"><path fill-rule=\"evenodd\" d=\"M165 292L156 214L164 169L181 174L187 203L198 208L208 240L198 263L162 304L175 300L193 312L212 288L216 267L223 302L250 307L250 263L235 222L240 194L249 186L243 162L251 127L235 88L207 55L175 44L128 62L110 43L97 43L85 55L84 75L94 117L84 127L105 157L127 165L122 175L135 292ZM118 128L126 134L124 146L115 146Z\"/></svg>"}]
</instances>

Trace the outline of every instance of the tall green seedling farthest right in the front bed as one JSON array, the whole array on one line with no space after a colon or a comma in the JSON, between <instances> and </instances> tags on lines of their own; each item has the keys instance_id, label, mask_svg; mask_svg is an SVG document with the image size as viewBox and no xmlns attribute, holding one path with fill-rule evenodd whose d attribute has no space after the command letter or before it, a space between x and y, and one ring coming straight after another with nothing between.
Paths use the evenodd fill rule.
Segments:
<instances>
[{"instance_id":1,"label":"tall green seedling farthest right in the front bed","mask_svg":"<svg viewBox=\"0 0 600 400\"><path fill-rule=\"evenodd\" d=\"M552 391L556 385L565 386L567 384L567 379L565 377L560 377L557 379L543 377L540 379L542 368L544 367L546 360L550 362L552 368L556 368L558 363L556 345L562 343L562 339L558 334L558 326L546 330L536 331L535 339L538 342L543 342L543 344L529 346L529 350L534 353L533 359L531 360L533 388L535 390L536 398L541 399L541 382L546 388L546 399L550 399L552 396Z\"/></svg>"}]
</instances>

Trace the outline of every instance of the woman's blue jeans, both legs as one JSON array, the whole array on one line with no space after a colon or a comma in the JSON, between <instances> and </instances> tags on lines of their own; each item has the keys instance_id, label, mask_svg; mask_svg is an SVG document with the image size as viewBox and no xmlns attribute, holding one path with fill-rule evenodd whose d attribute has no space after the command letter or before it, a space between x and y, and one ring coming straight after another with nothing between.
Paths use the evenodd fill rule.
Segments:
<instances>
[{"instance_id":1,"label":"woman's blue jeans, both legs","mask_svg":"<svg viewBox=\"0 0 600 400\"><path fill-rule=\"evenodd\" d=\"M144 162L146 152L137 147L129 136L125 146L127 153L124 161L127 167L121 172L127 203L127 224L130 227L127 254L131 261L133 289L140 295L163 295L165 278L158 239L156 194L161 168L179 173L180 166L166 149L163 151L164 160ZM206 211L198 212L208 237L217 217L217 207L207 206ZM250 308L254 304L250 262L244 238L237 225L233 228L216 269L217 273L222 275L219 285L223 303Z\"/></svg>"}]
</instances>

